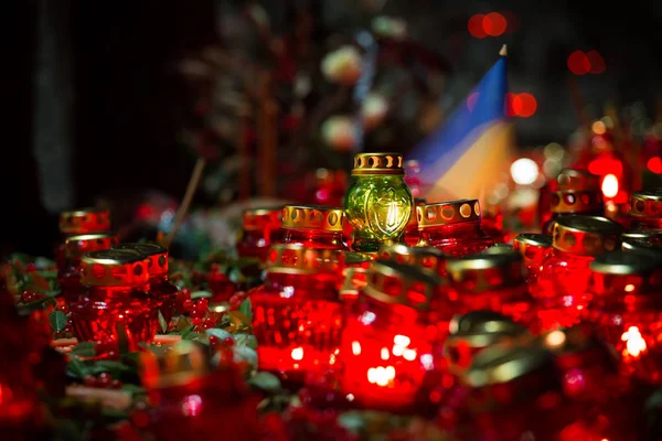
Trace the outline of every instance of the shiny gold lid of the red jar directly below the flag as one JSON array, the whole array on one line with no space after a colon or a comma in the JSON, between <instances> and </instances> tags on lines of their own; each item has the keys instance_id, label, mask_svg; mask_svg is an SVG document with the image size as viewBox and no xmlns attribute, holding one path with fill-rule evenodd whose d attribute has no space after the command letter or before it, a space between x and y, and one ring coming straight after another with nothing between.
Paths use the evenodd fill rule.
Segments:
<instances>
[{"instance_id":1,"label":"shiny gold lid of the red jar directly below the flag","mask_svg":"<svg viewBox=\"0 0 662 441\"><path fill-rule=\"evenodd\" d=\"M451 284L462 292L483 292L524 282L522 257L515 252L478 254L448 259Z\"/></svg>"}]
</instances>

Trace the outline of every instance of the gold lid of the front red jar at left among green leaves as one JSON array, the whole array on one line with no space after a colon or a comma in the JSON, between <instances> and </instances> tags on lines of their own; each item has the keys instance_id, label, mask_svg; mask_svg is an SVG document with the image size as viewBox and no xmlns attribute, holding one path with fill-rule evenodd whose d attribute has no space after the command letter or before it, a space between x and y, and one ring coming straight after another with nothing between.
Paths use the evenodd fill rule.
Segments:
<instances>
[{"instance_id":1,"label":"gold lid of the front red jar at left among green leaves","mask_svg":"<svg viewBox=\"0 0 662 441\"><path fill-rule=\"evenodd\" d=\"M104 249L81 259L83 284L89 287L140 287L148 282L148 258L129 249Z\"/></svg>"}]
</instances>

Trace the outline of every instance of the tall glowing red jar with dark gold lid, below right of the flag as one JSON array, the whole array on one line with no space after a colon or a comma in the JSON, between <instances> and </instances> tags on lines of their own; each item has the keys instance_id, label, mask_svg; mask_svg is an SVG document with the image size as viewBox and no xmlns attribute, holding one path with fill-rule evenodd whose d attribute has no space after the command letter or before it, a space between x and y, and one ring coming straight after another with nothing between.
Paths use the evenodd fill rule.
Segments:
<instances>
[{"instance_id":1,"label":"tall glowing red jar with dark gold lid, below right of the flag","mask_svg":"<svg viewBox=\"0 0 662 441\"><path fill-rule=\"evenodd\" d=\"M537 278L537 326L552 330L579 323L590 301L590 262L620 248L622 226L598 216L556 220L552 251Z\"/></svg>"}]
</instances>

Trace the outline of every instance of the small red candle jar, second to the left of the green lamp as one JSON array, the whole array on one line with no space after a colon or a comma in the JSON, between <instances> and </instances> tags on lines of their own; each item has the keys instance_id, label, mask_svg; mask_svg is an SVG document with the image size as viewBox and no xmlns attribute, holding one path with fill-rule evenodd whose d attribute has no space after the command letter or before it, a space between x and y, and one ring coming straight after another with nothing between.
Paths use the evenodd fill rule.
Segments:
<instances>
[{"instance_id":1,"label":"small red candle jar, second to the left of the green lamp","mask_svg":"<svg viewBox=\"0 0 662 441\"><path fill-rule=\"evenodd\" d=\"M239 257L254 257L266 261L269 246L282 239L280 225L279 207L246 209L236 245Z\"/></svg>"}]
</instances>

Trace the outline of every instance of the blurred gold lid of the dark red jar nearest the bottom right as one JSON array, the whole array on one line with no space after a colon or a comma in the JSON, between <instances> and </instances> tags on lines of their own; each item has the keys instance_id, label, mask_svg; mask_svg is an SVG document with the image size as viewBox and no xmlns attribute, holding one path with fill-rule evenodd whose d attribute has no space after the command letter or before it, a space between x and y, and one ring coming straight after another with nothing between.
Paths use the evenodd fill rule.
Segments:
<instances>
[{"instance_id":1,"label":"blurred gold lid of the dark red jar nearest the bottom right","mask_svg":"<svg viewBox=\"0 0 662 441\"><path fill-rule=\"evenodd\" d=\"M462 375L474 388L513 381L538 370L555 372L554 356L542 347L493 345L473 357Z\"/></svg>"}]
</instances>

